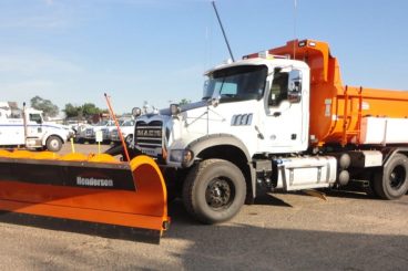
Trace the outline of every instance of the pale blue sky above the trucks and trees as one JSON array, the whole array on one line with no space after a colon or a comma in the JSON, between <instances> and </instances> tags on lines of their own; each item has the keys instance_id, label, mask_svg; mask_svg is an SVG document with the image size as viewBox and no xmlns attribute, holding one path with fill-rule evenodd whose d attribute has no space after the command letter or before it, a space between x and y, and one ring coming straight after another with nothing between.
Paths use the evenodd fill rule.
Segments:
<instances>
[{"instance_id":1,"label":"pale blue sky above the trucks and trees","mask_svg":"<svg viewBox=\"0 0 408 271\"><path fill-rule=\"evenodd\" d=\"M217 0L235 58L295 37L294 0ZM349 85L408 90L408 1L297 0L296 37L324 40ZM0 101L116 112L198 100L228 58L210 0L0 0Z\"/></svg>"}]
</instances>

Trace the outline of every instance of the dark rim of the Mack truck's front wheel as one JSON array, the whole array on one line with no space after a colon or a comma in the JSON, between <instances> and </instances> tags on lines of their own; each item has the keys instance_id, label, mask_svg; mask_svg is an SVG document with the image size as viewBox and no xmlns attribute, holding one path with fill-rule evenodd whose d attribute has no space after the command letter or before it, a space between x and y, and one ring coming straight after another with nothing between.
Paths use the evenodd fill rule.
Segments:
<instances>
[{"instance_id":1,"label":"dark rim of the Mack truck's front wheel","mask_svg":"<svg viewBox=\"0 0 408 271\"><path fill-rule=\"evenodd\" d=\"M205 190L205 200L214 210L228 208L235 198L233 183L228 178L214 178Z\"/></svg>"}]
</instances>

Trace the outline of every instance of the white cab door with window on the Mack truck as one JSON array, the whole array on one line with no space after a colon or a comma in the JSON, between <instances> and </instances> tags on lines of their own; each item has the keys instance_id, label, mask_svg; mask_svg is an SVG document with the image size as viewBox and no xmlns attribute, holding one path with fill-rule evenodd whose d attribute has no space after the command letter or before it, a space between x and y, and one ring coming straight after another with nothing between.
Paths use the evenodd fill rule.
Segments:
<instances>
[{"instance_id":1,"label":"white cab door with window on the Mack truck","mask_svg":"<svg viewBox=\"0 0 408 271\"><path fill-rule=\"evenodd\" d=\"M307 71L306 71L307 73ZM304 97L304 71L275 69L266 92L265 133L262 145L268 153L293 153L307 148L308 100Z\"/></svg>"}]
</instances>

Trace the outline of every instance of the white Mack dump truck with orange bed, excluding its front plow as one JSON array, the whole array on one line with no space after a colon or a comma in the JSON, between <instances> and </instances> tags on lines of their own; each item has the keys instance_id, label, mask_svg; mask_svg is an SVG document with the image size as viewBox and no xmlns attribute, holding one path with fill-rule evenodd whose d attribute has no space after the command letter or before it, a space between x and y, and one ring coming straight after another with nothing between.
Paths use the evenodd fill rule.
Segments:
<instances>
[{"instance_id":1,"label":"white Mack dump truck with orange bed, excluding its front plow","mask_svg":"<svg viewBox=\"0 0 408 271\"><path fill-rule=\"evenodd\" d=\"M289 41L206 76L197 103L133 110L134 148L200 221L231 219L265 188L407 192L408 92L344 85L328 43Z\"/></svg>"}]
</instances>

